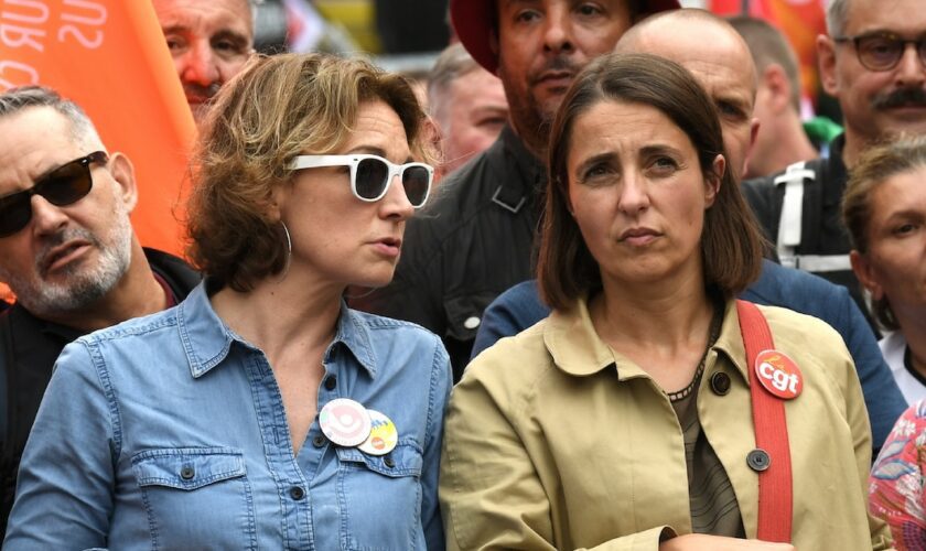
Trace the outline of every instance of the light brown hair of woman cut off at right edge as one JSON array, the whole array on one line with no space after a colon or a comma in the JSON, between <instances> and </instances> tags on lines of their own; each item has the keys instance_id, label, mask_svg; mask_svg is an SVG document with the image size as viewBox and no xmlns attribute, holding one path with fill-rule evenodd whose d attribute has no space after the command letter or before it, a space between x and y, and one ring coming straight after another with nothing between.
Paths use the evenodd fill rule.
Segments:
<instances>
[{"instance_id":1,"label":"light brown hair of woman cut off at right edge","mask_svg":"<svg viewBox=\"0 0 926 551\"><path fill-rule=\"evenodd\" d=\"M926 137L901 138L865 150L849 172L849 183L842 196L842 220L849 229L852 248L861 255L869 251L872 217L871 196L885 181L905 172L926 166ZM900 325L886 296L872 301L874 317L885 329L897 331Z\"/></svg>"}]
</instances>

